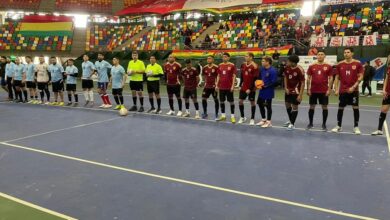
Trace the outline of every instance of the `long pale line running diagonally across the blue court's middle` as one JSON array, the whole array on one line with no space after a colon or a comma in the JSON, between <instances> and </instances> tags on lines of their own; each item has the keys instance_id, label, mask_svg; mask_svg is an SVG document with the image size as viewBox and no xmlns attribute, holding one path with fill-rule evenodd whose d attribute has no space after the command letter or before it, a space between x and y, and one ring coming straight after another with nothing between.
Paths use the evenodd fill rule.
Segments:
<instances>
[{"instance_id":1,"label":"long pale line running diagonally across the blue court's middle","mask_svg":"<svg viewBox=\"0 0 390 220\"><path fill-rule=\"evenodd\" d=\"M5 143L5 142L0 142L0 144L3 146L11 147L11 148L27 150L27 151L31 151L31 152L35 152L35 153L39 153L39 154L44 154L44 155L63 158L63 159L67 159L67 160L77 161L80 163L90 164L90 165L94 165L94 166L124 171L127 173L153 177L153 178L157 178L157 179L182 183L182 184L186 184L186 185L197 186L200 188L206 188L206 189L212 189L212 190L216 190L216 191L227 192L227 193L236 194L236 195L240 195L240 196L256 198L256 199L260 199L260 200L265 200L265 201L279 203L279 204L285 204L285 205L289 205L289 206L314 210L314 211L318 211L318 212L330 213L333 215L344 216L344 217L349 217L349 218L353 218L353 219L376 220L375 218L372 218L372 217L356 215L356 214L347 213L347 212L343 212L343 211L336 211L336 210L332 210L332 209L321 208L318 206L312 206L312 205L308 205L308 204L304 204L304 203L298 203L298 202L293 202L293 201L289 201L289 200L264 196L264 195L260 195L260 194L254 194L254 193L248 193L248 192L238 191L238 190L234 190L234 189L223 188L223 187L219 187L219 186L215 186L215 185L209 185L209 184L194 182L194 181L185 180L185 179L179 179L179 178L174 178L174 177L169 177L169 176L158 175L158 174L154 174L154 173L149 173L149 172L144 172L144 171L140 171L140 170L134 170L134 169L129 169L129 168L125 168L125 167L105 164L105 163L101 163L101 162L96 162L96 161L92 161L92 160L86 160L86 159L82 159L82 158L67 156L67 155L53 153L53 152L49 152L49 151L38 150L36 148L26 147L26 146L22 146L22 145L10 144L10 143Z\"/></svg>"}]
</instances>

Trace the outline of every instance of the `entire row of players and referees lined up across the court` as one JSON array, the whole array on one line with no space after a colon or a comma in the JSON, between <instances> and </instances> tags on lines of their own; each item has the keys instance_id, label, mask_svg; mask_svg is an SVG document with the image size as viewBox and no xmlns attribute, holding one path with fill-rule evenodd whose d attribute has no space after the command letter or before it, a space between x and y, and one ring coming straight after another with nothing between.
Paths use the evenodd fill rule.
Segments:
<instances>
[{"instance_id":1,"label":"entire row of players and referees lined up across the court","mask_svg":"<svg viewBox=\"0 0 390 220\"><path fill-rule=\"evenodd\" d=\"M354 116L355 134L361 134L358 127L359 113L359 83L363 78L363 66L358 61L353 59L353 48L344 49L344 60L339 62L335 69L325 62L325 52L319 51L317 54L317 62L310 65L307 71L307 79L305 72L298 65L299 57L291 55L287 60L287 67L284 72L285 85L285 104L289 121L284 124L288 130L295 128L295 122L298 116L298 106L302 101L307 85L307 95L309 98L310 109L309 124L307 129L313 128L314 109L317 104L322 106L322 127L323 131L327 131L328 118L328 103L329 96L332 91L336 96L339 96L339 108L337 112L337 126L332 129L332 132L342 131L342 121L344 108L351 105ZM190 99L195 107L196 119L207 119L208 103L210 96L213 97L215 103L215 120L226 121L225 102L230 105L230 121L236 122L235 118L235 103L234 103L234 87L236 83L237 68L229 62L229 53L224 53L222 63L216 65L214 58L207 58L207 65L203 67L204 89L202 93L203 114L199 113L199 104L197 100L197 87L200 81L199 71L192 66L191 60L185 60L185 67L176 62L175 57L170 55L168 62L162 67L156 62L154 56L150 57L150 64L145 67L143 61L138 59L138 53L132 53L132 60L129 62L127 70L119 64L119 58L113 58L112 65L104 60L103 54L98 55L98 60L93 64L89 61L88 55L83 56L82 63L82 89L86 100L85 106L94 105L92 80L93 75L98 76L98 93L101 96L103 104L101 108L111 108L112 104L107 94L107 89L112 88L112 95L115 103L115 109L124 108L123 88L128 76L130 76L130 89L132 92L133 106L129 111L143 112L144 110L144 77L147 78L147 91L149 94L149 102L151 108L148 113L161 114L161 97L160 97L160 79L165 76L167 83L167 93L169 97L169 112L168 115L175 115L174 99L177 99L179 111L178 117L190 117ZM275 97L275 87L277 86L277 71L272 67L272 59L263 57L261 67L254 61L254 55L248 53L245 56L245 62L241 65L241 80L239 94L239 110L240 118L238 123L245 123L247 118L244 113L244 100L248 99L251 105L250 125L258 125L263 128L272 127L272 100ZM5 65L5 77L1 80L1 85L9 92L9 99L13 99L12 90L15 91L17 102L27 102L27 89L30 91L30 101L33 104L48 104L48 105L64 105L64 84L68 92L67 106L75 106L78 104L78 95L76 93L78 69L74 66L72 59L68 60L67 66L64 69L61 64L58 64L55 57L50 59L50 65L46 64L44 57L39 57L39 64L34 65L31 57L26 57L27 64L22 64L19 58L16 58L15 63L11 62L10 58L2 57L2 63ZM4 68L4 67L3 67ZM372 135L382 135L383 123L386 119L386 114L390 107L390 82L388 71L383 88L383 102L381 113L379 116L378 130ZM66 83L64 81L66 80ZM256 80L262 80L260 88L256 87ZM185 111L182 110L181 86L184 84L183 98L185 102ZM52 85L54 93L54 102L50 102L49 85ZM40 100L38 100L37 88L40 91ZM256 112L256 90L259 89L257 105L260 109L261 120L255 124ZM25 100L23 100L22 93ZM44 102L46 94L47 102ZM74 102L72 102L74 97ZM19 98L19 99L18 99ZM140 102L140 107L137 105L137 98ZM157 108L154 105L154 99L157 101ZM219 114L221 111L221 114Z\"/></svg>"}]
</instances>

